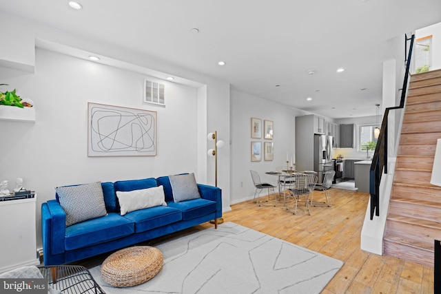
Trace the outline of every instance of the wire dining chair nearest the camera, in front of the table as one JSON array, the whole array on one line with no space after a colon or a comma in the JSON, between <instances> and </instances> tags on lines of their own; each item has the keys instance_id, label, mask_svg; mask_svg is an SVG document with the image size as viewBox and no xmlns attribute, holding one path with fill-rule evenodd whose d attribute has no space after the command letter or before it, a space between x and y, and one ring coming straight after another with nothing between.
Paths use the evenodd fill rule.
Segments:
<instances>
[{"instance_id":1,"label":"wire dining chair nearest the camera, in front of the table","mask_svg":"<svg viewBox=\"0 0 441 294\"><path fill-rule=\"evenodd\" d=\"M314 174L296 174L293 176L295 182L293 182L289 186L289 191L291 193L288 194L287 198L294 198L296 205L294 207L294 211L289 209L289 199L285 199L285 208L287 211L291 211L294 214L297 214L297 204L301 200L305 200L305 207L308 211L308 215L311 216L311 211L309 211L309 195L313 193L314 188L316 187L318 177ZM300 199L303 198L303 199Z\"/></svg>"}]
</instances>

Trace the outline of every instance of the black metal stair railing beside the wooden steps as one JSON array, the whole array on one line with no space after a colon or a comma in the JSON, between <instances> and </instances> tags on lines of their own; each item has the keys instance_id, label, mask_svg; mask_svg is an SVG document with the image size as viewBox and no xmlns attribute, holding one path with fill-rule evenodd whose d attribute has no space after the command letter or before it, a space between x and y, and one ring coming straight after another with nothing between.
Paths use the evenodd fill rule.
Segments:
<instances>
[{"instance_id":1,"label":"black metal stair railing beside the wooden steps","mask_svg":"<svg viewBox=\"0 0 441 294\"><path fill-rule=\"evenodd\" d=\"M402 109L404 108L404 102L406 101L407 94L407 82L409 78L409 72L411 67L411 56L413 50L413 40L415 39L415 35L412 34L411 38L407 38L407 35L404 35L404 45L406 50L407 41L411 41L409 45L409 54L406 59L406 71L404 73L404 81L402 84L402 92L401 92L401 100L400 105L395 107L387 107L384 110L384 116L381 123L380 135L378 136L377 146L375 149L375 153L373 154L371 169L369 173L369 193L371 193L371 220L373 219L373 214L376 216L380 216L380 182L383 174L387 174L387 129L388 129L388 116L389 111L393 109ZM406 56L406 54L404 54Z\"/></svg>"}]
</instances>

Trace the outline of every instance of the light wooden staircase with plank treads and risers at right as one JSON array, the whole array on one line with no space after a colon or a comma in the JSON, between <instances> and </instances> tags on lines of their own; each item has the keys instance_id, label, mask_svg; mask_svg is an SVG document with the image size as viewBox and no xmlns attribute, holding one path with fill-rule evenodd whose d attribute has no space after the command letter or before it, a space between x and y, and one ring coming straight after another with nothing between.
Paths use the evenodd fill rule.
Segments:
<instances>
[{"instance_id":1,"label":"light wooden staircase with plank treads and risers at right","mask_svg":"<svg viewBox=\"0 0 441 294\"><path fill-rule=\"evenodd\" d=\"M430 184L438 138L441 70L412 75L383 249L427 266L433 266L433 240L441 240L441 187Z\"/></svg>"}]
</instances>

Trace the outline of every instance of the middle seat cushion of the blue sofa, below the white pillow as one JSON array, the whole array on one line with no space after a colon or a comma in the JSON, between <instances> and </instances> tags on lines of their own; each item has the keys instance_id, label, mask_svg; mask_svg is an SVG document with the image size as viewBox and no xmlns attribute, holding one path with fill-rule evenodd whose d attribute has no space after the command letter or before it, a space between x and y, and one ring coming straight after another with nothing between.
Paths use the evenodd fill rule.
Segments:
<instances>
[{"instance_id":1,"label":"middle seat cushion of the blue sofa, below the white pillow","mask_svg":"<svg viewBox=\"0 0 441 294\"><path fill-rule=\"evenodd\" d=\"M124 218L135 224L135 233L163 227L182 220L182 212L172 207L150 207L126 213Z\"/></svg>"}]
</instances>

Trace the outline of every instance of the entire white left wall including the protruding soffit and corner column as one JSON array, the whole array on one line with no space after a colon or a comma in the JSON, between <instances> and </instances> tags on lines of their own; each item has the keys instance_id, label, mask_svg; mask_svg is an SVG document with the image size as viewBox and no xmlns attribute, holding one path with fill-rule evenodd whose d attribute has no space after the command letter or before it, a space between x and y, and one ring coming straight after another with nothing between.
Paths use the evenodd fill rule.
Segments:
<instances>
[{"instance_id":1,"label":"entire white left wall including the protruding soffit and corner column","mask_svg":"<svg viewBox=\"0 0 441 294\"><path fill-rule=\"evenodd\" d=\"M3 143L0 147L0 180L10 180L12 189L15 178L21 177L26 188L37 191L37 246L41 246L39 207L41 202L54 198L54 187L58 185L147 178L183 171L194 171L196 179L201 176L198 182L214 185L214 169L206 159L209 144L206 132L217 129L220 137L229 142L229 83L0 11L1 35L10 30L10 23L14 23L14 34L7 34L9 42L28 46L28 49L17 50L17 57L12 56L10 50L0 48L0 83L8 83L8 89L17 88L17 94L34 100L37 122L0 121ZM37 36L65 48L109 56L116 61L182 77L203 86L196 89L161 80L166 84L167 106L158 107L141 102L143 78L147 76L139 72L41 49L35 54L35 73L1 67L7 66L8 61L33 64L34 54L30 52L35 52ZM159 81L158 78L151 79ZM156 110L158 155L87 157L87 101ZM218 167L218 187L223 190L225 211L229 209L229 147L221 152L225 161Z\"/></svg>"}]
</instances>

